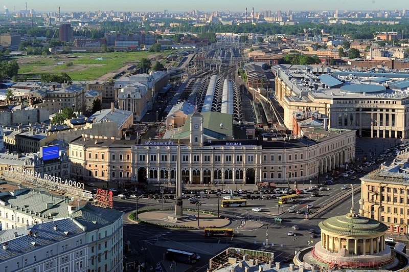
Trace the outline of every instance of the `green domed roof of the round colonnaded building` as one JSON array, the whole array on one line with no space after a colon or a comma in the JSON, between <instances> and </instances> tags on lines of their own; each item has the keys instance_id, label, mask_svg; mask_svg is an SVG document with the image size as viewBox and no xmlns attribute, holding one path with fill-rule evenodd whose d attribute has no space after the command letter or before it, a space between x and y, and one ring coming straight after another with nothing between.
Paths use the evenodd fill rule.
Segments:
<instances>
[{"instance_id":1,"label":"green domed roof of the round colonnaded building","mask_svg":"<svg viewBox=\"0 0 409 272\"><path fill-rule=\"evenodd\" d=\"M373 234L382 234L388 230L388 226L375 219L362 216L335 216L319 223L322 231L350 236L368 236Z\"/></svg>"}]
</instances>

